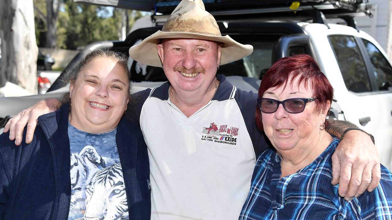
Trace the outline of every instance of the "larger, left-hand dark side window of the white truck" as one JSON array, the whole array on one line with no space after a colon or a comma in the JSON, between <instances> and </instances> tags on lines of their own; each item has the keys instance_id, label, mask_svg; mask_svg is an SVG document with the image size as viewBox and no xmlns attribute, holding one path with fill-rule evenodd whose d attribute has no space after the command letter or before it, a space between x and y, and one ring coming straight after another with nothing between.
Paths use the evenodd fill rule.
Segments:
<instances>
[{"instance_id":1,"label":"larger, left-hand dark side window of the white truck","mask_svg":"<svg viewBox=\"0 0 392 220\"><path fill-rule=\"evenodd\" d=\"M370 92L370 79L363 57L353 36L328 36L348 90Z\"/></svg>"}]
</instances>

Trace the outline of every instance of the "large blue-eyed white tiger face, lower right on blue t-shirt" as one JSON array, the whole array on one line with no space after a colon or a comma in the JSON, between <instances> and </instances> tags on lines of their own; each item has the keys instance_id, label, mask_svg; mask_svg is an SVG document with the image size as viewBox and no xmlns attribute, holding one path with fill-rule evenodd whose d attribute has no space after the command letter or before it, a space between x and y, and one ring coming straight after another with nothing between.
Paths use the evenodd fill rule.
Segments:
<instances>
[{"instance_id":1,"label":"large blue-eyed white tiger face, lower right on blue t-shirt","mask_svg":"<svg viewBox=\"0 0 392 220\"><path fill-rule=\"evenodd\" d=\"M129 219L127 195L121 164L95 173L86 186L85 219Z\"/></svg>"}]
</instances>

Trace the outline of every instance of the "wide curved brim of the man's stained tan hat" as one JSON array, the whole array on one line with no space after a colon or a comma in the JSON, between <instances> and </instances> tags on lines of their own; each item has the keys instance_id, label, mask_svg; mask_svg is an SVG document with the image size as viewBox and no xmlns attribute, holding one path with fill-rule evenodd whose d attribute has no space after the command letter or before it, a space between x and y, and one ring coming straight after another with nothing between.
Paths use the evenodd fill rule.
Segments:
<instances>
[{"instance_id":1,"label":"wide curved brim of the man's stained tan hat","mask_svg":"<svg viewBox=\"0 0 392 220\"><path fill-rule=\"evenodd\" d=\"M241 58L249 56L253 52L252 45L238 43L230 38L229 35L211 36L189 32L157 31L151 36L145 38L142 42L132 46L129 49L129 56L140 63L153 67L162 67L162 62L158 56L158 51L156 50L156 45L160 43L160 39L162 38L193 38L221 42L223 45L220 65L240 60Z\"/></svg>"}]
</instances>

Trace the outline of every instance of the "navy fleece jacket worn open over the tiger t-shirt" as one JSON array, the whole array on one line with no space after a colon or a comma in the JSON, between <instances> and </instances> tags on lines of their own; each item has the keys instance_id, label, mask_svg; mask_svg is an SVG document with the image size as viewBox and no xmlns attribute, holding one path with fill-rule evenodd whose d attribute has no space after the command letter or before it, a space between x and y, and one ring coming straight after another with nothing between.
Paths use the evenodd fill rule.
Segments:
<instances>
[{"instance_id":1,"label":"navy fleece jacket worn open over the tiger t-shirt","mask_svg":"<svg viewBox=\"0 0 392 220\"><path fill-rule=\"evenodd\" d=\"M67 220L71 195L69 105L38 118L33 141L20 146L0 135L0 220ZM24 131L25 138L26 130ZM137 124L123 118L116 143L129 216L149 220L147 146Z\"/></svg>"}]
</instances>

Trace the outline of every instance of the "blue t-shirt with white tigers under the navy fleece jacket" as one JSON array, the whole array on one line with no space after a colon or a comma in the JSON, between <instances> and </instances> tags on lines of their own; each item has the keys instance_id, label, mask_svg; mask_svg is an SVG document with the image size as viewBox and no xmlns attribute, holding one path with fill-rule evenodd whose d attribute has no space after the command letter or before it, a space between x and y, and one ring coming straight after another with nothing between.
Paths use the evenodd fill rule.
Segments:
<instances>
[{"instance_id":1,"label":"blue t-shirt with white tigers under the navy fleece jacket","mask_svg":"<svg viewBox=\"0 0 392 220\"><path fill-rule=\"evenodd\" d=\"M71 202L68 220L129 218L116 129L87 133L68 125Z\"/></svg>"}]
</instances>

